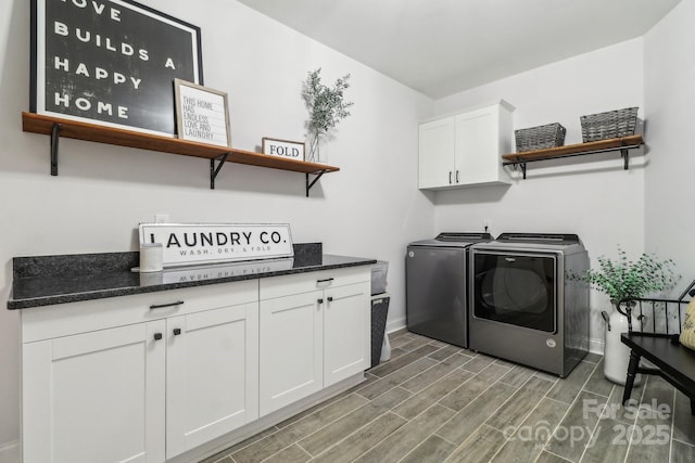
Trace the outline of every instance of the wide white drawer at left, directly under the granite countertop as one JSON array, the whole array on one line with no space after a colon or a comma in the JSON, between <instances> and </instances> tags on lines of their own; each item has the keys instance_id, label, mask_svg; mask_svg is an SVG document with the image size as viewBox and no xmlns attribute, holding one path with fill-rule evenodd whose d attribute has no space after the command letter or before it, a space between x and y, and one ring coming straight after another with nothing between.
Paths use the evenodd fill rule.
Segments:
<instances>
[{"instance_id":1,"label":"wide white drawer at left, directly under the granite countertop","mask_svg":"<svg viewBox=\"0 0 695 463\"><path fill-rule=\"evenodd\" d=\"M85 300L21 311L22 342L31 343L166 317L255 303L258 281L248 280ZM184 304L176 304L182 301Z\"/></svg>"}]
</instances>

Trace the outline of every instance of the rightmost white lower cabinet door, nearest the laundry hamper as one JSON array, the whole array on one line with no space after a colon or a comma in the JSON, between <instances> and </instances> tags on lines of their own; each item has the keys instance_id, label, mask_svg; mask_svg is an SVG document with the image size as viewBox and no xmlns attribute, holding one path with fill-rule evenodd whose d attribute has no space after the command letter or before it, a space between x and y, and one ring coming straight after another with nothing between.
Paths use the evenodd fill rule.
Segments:
<instances>
[{"instance_id":1,"label":"rightmost white lower cabinet door, nearest the laundry hamper","mask_svg":"<svg viewBox=\"0 0 695 463\"><path fill-rule=\"evenodd\" d=\"M370 283L326 290L324 303L324 387L371 364Z\"/></svg>"}]
</instances>

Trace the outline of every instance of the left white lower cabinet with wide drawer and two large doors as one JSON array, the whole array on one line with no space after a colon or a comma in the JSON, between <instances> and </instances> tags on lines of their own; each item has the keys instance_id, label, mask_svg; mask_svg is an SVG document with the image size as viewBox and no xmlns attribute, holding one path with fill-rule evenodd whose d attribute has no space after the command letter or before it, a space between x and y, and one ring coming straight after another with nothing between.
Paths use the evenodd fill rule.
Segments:
<instances>
[{"instance_id":1,"label":"left white lower cabinet with wide drawer and two large doors","mask_svg":"<svg viewBox=\"0 0 695 463\"><path fill-rule=\"evenodd\" d=\"M228 291L25 309L23 462L164 462L256 420L257 282ZM155 320L79 332L122 318Z\"/></svg>"}]
</instances>

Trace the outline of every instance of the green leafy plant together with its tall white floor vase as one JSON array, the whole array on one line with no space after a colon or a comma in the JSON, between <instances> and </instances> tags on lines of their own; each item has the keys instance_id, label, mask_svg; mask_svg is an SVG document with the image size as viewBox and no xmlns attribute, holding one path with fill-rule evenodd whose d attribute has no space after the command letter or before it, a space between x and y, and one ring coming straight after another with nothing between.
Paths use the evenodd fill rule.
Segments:
<instances>
[{"instance_id":1,"label":"green leafy plant together with its tall white floor vase","mask_svg":"<svg viewBox=\"0 0 695 463\"><path fill-rule=\"evenodd\" d=\"M630 349L620 342L620 334L632 330L637 319L632 313L635 303L630 299L645 297L672 288L680 279L673 272L673 260L659 260L654 254L642 254L629 260L618 246L618 258L598 257L598 269L590 269L576 279L587 282L594 290L605 293L614 305L610 316L602 311L606 322L604 343L604 375L623 384L628 371ZM626 310L622 310L621 304ZM639 384L639 380L635 382Z\"/></svg>"}]
</instances>

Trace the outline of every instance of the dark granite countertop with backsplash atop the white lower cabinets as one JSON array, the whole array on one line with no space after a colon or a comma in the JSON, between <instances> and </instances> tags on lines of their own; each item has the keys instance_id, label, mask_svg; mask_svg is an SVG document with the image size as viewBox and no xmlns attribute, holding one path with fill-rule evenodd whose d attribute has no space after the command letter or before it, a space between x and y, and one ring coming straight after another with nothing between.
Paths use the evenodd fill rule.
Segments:
<instances>
[{"instance_id":1,"label":"dark granite countertop with backsplash atop the white lower cabinets","mask_svg":"<svg viewBox=\"0 0 695 463\"><path fill-rule=\"evenodd\" d=\"M109 253L15 257L8 309L128 296L207 284L228 283L344 267L376 259L323 254L320 243L295 244L294 257L227 265L208 265L138 273L139 254Z\"/></svg>"}]
</instances>

